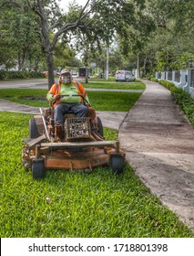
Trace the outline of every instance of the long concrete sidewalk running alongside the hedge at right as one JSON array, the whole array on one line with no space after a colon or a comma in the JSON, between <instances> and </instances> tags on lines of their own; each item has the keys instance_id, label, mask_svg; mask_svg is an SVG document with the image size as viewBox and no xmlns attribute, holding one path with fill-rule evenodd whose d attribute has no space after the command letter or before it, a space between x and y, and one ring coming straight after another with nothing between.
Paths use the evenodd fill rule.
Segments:
<instances>
[{"instance_id":1,"label":"long concrete sidewalk running alongside the hedge at right","mask_svg":"<svg viewBox=\"0 0 194 256\"><path fill-rule=\"evenodd\" d=\"M166 88L144 82L120 127L120 146L151 193L194 231L194 129Z\"/></svg>"}]
</instances>

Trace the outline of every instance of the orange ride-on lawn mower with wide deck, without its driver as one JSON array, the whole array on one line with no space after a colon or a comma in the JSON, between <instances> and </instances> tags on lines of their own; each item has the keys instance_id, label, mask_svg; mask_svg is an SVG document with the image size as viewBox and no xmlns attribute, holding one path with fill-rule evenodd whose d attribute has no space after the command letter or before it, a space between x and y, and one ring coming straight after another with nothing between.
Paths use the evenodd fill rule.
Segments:
<instances>
[{"instance_id":1,"label":"orange ride-on lawn mower with wide deck, without its driver","mask_svg":"<svg viewBox=\"0 0 194 256\"><path fill-rule=\"evenodd\" d=\"M66 113L59 135L55 109L39 110L29 121L29 138L23 139L22 149L23 165L32 170L35 179L44 177L46 169L56 168L92 171L95 166L109 165L114 173L122 173L125 153L118 141L104 139L101 120L93 108L88 107L87 117Z\"/></svg>"}]
</instances>

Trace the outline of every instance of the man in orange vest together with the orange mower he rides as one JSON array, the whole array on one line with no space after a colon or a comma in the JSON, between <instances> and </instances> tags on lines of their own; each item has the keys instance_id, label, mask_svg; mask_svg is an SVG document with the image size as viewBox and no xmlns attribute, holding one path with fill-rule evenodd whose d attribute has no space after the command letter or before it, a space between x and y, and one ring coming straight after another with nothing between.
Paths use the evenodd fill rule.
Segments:
<instances>
[{"instance_id":1,"label":"man in orange vest together with the orange mower he rides","mask_svg":"<svg viewBox=\"0 0 194 256\"><path fill-rule=\"evenodd\" d=\"M29 138L24 139L22 160L34 178L45 176L46 169L89 169L110 165L114 173L124 168L125 154L118 141L105 141L103 126L91 107L80 82L62 70L58 83L48 91L50 102L45 112L29 123Z\"/></svg>"}]
</instances>

